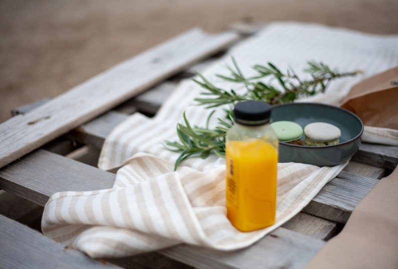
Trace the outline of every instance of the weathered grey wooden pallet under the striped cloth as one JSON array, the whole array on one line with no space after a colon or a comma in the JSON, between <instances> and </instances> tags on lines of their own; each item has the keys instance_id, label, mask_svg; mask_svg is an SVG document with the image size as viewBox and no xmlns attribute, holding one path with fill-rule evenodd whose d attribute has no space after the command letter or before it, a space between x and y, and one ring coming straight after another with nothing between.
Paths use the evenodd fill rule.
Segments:
<instances>
[{"instance_id":1,"label":"weathered grey wooden pallet under the striped cloth","mask_svg":"<svg viewBox=\"0 0 398 269\"><path fill-rule=\"evenodd\" d=\"M256 29L238 25L220 34L193 29L56 98L16 109L13 118L0 124L0 188L44 206L54 192L112 187L115 174L95 167L112 128L131 113L156 113L180 79ZM254 245L224 252L180 244L158 253L198 268L300 268L341 230L355 205L397 163L397 147L362 144L302 212ZM0 241L5 267L118 263L91 259L6 216L0 216L0 226L6 234Z\"/></svg>"}]
</instances>

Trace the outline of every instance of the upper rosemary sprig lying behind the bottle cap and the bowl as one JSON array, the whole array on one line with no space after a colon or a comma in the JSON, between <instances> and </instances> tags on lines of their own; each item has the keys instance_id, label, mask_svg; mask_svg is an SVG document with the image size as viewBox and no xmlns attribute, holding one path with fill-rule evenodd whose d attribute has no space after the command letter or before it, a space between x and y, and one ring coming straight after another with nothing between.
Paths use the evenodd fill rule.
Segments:
<instances>
[{"instance_id":1,"label":"upper rosemary sprig lying behind the bottle cap and the bowl","mask_svg":"<svg viewBox=\"0 0 398 269\"><path fill-rule=\"evenodd\" d=\"M227 66L231 73L230 76L217 76L226 81L243 84L247 91L238 94L234 89L225 90L218 88L202 74L197 73L202 81L198 79L193 79L193 81L208 90L202 94L208 97L195 98L199 104L209 108L224 104L234 104L241 100L262 100L270 104L291 102L297 98L324 92L333 79L354 76L362 72L361 70L355 70L353 72L340 73L335 69L329 68L323 62L308 61L308 67L304 69L304 72L309 73L311 79L303 80L298 77L291 67L284 73L273 63L268 62L267 65L254 65L253 69L256 70L257 75L245 77L236 60L234 58L232 60L235 68ZM259 80L263 78L270 78L269 83ZM279 87L271 83L273 80L277 80ZM209 97L210 95L214 95L214 97Z\"/></svg>"}]
</instances>

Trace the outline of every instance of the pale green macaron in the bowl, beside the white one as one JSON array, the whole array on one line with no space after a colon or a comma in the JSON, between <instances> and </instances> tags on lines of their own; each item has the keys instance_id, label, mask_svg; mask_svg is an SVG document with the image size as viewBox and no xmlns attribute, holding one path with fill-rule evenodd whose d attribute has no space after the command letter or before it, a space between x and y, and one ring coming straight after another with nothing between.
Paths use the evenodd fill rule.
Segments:
<instances>
[{"instance_id":1,"label":"pale green macaron in the bowl, beside the white one","mask_svg":"<svg viewBox=\"0 0 398 269\"><path fill-rule=\"evenodd\" d=\"M285 143L302 144L303 128L293 121L280 120L271 123L278 140Z\"/></svg>"}]
</instances>

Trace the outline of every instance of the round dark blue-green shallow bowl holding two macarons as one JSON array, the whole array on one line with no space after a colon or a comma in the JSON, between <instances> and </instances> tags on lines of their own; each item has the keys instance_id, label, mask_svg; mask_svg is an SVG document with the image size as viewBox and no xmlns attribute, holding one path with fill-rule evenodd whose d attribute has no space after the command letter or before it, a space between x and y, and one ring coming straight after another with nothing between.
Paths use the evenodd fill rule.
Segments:
<instances>
[{"instance_id":1,"label":"round dark blue-green shallow bowl holding two macarons","mask_svg":"<svg viewBox=\"0 0 398 269\"><path fill-rule=\"evenodd\" d=\"M342 163L359 149L363 123L352 112L321 103L287 103L274 105L271 120L291 120L305 127L308 123L323 121L341 130L338 144L326 146L294 145L279 142L279 162L301 162L317 166L333 166ZM301 137L304 139L304 134Z\"/></svg>"}]
</instances>

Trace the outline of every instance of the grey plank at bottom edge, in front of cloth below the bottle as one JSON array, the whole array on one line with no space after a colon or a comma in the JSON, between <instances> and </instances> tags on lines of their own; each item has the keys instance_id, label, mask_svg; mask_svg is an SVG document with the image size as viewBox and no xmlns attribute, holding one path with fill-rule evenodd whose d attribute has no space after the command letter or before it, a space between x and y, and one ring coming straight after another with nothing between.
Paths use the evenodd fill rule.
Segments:
<instances>
[{"instance_id":1,"label":"grey plank at bottom edge, in front of cloth below the bottle","mask_svg":"<svg viewBox=\"0 0 398 269\"><path fill-rule=\"evenodd\" d=\"M236 251L177 245L160 253L198 268L302 268L324 241L278 228L250 247Z\"/></svg>"}]
</instances>

